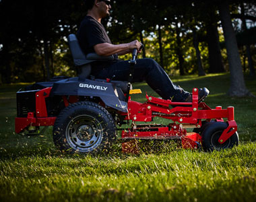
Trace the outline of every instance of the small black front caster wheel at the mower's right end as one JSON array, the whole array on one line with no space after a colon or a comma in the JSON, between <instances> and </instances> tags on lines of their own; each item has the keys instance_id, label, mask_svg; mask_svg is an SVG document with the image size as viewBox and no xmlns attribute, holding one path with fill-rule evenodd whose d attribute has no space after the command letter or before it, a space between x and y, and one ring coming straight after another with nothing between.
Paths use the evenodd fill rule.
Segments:
<instances>
[{"instance_id":1,"label":"small black front caster wheel at the mower's right end","mask_svg":"<svg viewBox=\"0 0 256 202\"><path fill-rule=\"evenodd\" d=\"M223 131L228 127L227 123L216 122L208 125L202 132L202 145L205 151L222 150L234 147L238 145L239 138L238 133L234 133L224 143L219 143L218 139L222 135Z\"/></svg>"}]
</instances>

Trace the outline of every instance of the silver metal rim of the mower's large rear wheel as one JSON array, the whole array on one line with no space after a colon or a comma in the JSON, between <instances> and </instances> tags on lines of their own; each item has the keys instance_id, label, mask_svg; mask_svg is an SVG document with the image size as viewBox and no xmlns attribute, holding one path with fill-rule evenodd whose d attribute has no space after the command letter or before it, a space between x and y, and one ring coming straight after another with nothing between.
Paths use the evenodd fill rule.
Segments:
<instances>
[{"instance_id":1,"label":"silver metal rim of the mower's large rear wheel","mask_svg":"<svg viewBox=\"0 0 256 202\"><path fill-rule=\"evenodd\" d=\"M81 115L71 119L66 128L69 145L80 152L96 149L103 138L102 124L92 116Z\"/></svg>"}]
</instances>

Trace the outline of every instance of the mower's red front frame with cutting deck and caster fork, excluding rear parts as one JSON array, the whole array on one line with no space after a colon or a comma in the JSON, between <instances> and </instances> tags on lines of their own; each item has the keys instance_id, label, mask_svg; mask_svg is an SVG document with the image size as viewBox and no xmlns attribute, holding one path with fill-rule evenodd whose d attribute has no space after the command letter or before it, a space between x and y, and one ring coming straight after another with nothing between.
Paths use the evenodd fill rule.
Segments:
<instances>
[{"instance_id":1,"label":"mower's red front frame with cutting deck and caster fork, excluding rear parts","mask_svg":"<svg viewBox=\"0 0 256 202\"><path fill-rule=\"evenodd\" d=\"M171 119L172 124L168 127L156 127L153 131L140 131L137 127L122 131L122 139L181 139L183 148L198 147L201 143L201 136L197 133L187 133L183 127L201 127L201 120L208 121L215 119L222 121L227 119L228 128L220 136L219 142L224 143L236 131L237 125L234 121L234 107L222 109L217 106L210 108L204 102L198 103L198 89L193 89L192 102L172 102L146 95L147 102L139 103L132 100L128 101L128 113L125 120L149 122L155 116L164 119ZM125 115L126 113L123 113ZM146 127L146 126L144 126ZM141 129L141 127L139 127ZM151 128L152 129L152 128Z\"/></svg>"}]
</instances>

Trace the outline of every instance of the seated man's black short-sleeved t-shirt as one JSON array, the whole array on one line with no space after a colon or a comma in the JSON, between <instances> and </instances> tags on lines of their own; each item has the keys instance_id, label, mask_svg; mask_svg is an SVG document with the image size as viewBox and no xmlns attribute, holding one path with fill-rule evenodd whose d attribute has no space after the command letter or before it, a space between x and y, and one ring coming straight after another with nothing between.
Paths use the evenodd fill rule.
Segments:
<instances>
[{"instance_id":1,"label":"seated man's black short-sleeved t-shirt","mask_svg":"<svg viewBox=\"0 0 256 202\"><path fill-rule=\"evenodd\" d=\"M81 22L79 30L76 34L79 45L84 53L95 53L94 46L96 44L109 43L111 44L108 34L102 24L94 20L90 16L86 16ZM92 75L96 75L101 69L118 61L117 54L114 55L114 61L94 62L92 63Z\"/></svg>"}]
</instances>

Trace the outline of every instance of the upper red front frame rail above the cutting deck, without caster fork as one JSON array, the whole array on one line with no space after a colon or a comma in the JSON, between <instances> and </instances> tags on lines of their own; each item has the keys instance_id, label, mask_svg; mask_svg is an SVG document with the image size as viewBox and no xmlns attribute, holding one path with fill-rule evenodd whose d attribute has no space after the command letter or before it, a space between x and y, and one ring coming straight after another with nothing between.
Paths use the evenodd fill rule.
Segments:
<instances>
[{"instance_id":1,"label":"upper red front frame rail above the cutting deck, without caster fork","mask_svg":"<svg viewBox=\"0 0 256 202\"><path fill-rule=\"evenodd\" d=\"M148 95L146 98L148 101L145 103L128 101L128 114L123 113L127 115L125 120L147 122L152 121L155 116L160 116L174 122L189 124L197 124L201 119L227 118L228 121L234 121L234 107L232 106L227 109L222 109L220 106L212 109L204 102L198 104L197 88L193 89L193 102L172 102Z\"/></svg>"}]
</instances>

